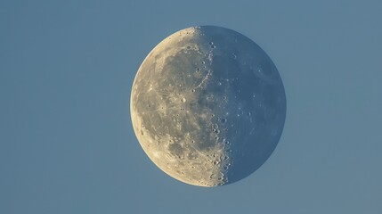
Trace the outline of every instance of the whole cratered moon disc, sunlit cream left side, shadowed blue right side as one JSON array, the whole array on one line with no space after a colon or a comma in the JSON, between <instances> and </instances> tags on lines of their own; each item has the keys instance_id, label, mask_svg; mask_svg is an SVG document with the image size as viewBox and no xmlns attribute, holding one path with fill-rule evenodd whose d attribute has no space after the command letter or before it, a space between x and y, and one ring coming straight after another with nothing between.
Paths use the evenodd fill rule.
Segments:
<instances>
[{"instance_id":1,"label":"whole cratered moon disc, sunlit cream left side, shadowed blue right side","mask_svg":"<svg viewBox=\"0 0 382 214\"><path fill-rule=\"evenodd\" d=\"M248 177L280 140L286 97L270 57L248 37L215 26L161 41L136 73L134 133L159 169L190 185Z\"/></svg>"}]
</instances>

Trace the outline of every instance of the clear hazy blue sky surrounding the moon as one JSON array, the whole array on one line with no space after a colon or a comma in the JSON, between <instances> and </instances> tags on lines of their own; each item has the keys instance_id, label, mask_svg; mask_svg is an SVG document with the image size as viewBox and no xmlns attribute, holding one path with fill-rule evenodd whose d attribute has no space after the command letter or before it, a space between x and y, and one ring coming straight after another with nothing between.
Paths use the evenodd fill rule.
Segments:
<instances>
[{"instance_id":1,"label":"clear hazy blue sky surrounding the moon","mask_svg":"<svg viewBox=\"0 0 382 214\"><path fill-rule=\"evenodd\" d=\"M0 1L0 213L382 213L381 1ZM287 120L232 185L185 185L142 151L134 75L179 29L252 38Z\"/></svg>"}]
</instances>

